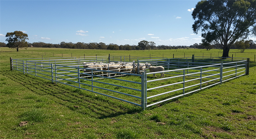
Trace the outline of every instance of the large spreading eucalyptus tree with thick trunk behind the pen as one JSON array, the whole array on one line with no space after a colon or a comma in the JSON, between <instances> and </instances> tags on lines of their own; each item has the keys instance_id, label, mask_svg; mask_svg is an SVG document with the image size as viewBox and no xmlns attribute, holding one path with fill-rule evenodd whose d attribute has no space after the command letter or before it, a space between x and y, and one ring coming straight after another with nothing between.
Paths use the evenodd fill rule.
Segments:
<instances>
[{"instance_id":1,"label":"large spreading eucalyptus tree with thick trunk behind the pen","mask_svg":"<svg viewBox=\"0 0 256 139\"><path fill-rule=\"evenodd\" d=\"M202 30L202 42L218 44L229 57L236 40L256 35L255 7L255 0L202 0L192 13L193 31Z\"/></svg>"}]
</instances>

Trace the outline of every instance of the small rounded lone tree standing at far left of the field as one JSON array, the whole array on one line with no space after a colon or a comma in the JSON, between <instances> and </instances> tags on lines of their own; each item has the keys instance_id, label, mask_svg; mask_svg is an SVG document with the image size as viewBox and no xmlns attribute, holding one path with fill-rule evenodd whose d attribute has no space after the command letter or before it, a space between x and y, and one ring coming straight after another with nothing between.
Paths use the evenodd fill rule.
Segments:
<instances>
[{"instance_id":1,"label":"small rounded lone tree standing at far left of the field","mask_svg":"<svg viewBox=\"0 0 256 139\"><path fill-rule=\"evenodd\" d=\"M19 48L28 48L28 42L26 41L28 40L28 34L23 33L22 31L7 33L5 37L7 37L6 41L8 42L6 46L17 49L17 52L19 51Z\"/></svg>"}]
</instances>

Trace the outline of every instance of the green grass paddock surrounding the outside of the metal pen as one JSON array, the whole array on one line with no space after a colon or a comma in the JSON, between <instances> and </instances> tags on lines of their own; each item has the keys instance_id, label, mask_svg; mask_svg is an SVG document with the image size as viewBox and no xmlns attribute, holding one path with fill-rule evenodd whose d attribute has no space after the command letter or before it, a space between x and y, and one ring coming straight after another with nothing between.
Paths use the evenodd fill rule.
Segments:
<instances>
[{"instance_id":1,"label":"green grass paddock surrounding the outside of the metal pen","mask_svg":"<svg viewBox=\"0 0 256 139\"><path fill-rule=\"evenodd\" d=\"M11 52L12 51L12 52ZM250 73L146 108L10 70L10 57L221 56L204 49L110 51L0 48L0 138L256 138L256 50ZM33 52L33 54L32 54ZM219 54L218 54L219 53ZM20 127L21 121L28 124Z\"/></svg>"}]
</instances>

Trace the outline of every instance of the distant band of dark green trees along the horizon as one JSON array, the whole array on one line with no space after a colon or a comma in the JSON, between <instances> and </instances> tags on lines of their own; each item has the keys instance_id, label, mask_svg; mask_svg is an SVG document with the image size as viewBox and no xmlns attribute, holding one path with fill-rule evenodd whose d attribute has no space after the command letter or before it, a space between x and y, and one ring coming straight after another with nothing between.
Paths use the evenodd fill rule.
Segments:
<instances>
[{"instance_id":1,"label":"distant band of dark green trees along the horizon","mask_svg":"<svg viewBox=\"0 0 256 139\"><path fill-rule=\"evenodd\" d=\"M243 44L245 43L245 45ZM44 43L44 42L28 42L28 47L37 47L37 48L68 48L68 49L100 49L100 50L152 50L152 49L221 49L220 46L214 44L214 45L204 45L202 43L195 43L190 46L167 46L167 45L158 45L156 46L153 41L140 41L138 45L117 45L110 43L106 45L103 42L97 43L97 42L90 42L90 43L84 43L84 42L60 42L59 44L52 44L52 43ZM4 42L0 42L0 47L6 47L6 44ZM241 52L244 52L244 49L256 49L256 44L253 42L253 40L240 40L237 41L234 45L231 46L231 49L241 49Z\"/></svg>"}]
</instances>

